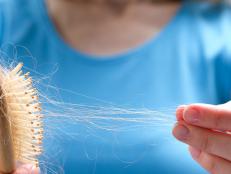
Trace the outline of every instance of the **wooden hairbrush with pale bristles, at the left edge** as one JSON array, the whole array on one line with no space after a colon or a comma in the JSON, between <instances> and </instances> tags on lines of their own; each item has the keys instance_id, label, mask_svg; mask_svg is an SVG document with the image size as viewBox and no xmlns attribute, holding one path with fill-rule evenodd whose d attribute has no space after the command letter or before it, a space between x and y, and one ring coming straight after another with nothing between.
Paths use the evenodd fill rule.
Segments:
<instances>
[{"instance_id":1,"label":"wooden hairbrush with pale bristles, at the left edge","mask_svg":"<svg viewBox=\"0 0 231 174\"><path fill-rule=\"evenodd\" d=\"M42 115L37 90L22 63L0 66L0 172L11 173L16 162L39 166L42 153Z\"/></svg>"}]
</instances>

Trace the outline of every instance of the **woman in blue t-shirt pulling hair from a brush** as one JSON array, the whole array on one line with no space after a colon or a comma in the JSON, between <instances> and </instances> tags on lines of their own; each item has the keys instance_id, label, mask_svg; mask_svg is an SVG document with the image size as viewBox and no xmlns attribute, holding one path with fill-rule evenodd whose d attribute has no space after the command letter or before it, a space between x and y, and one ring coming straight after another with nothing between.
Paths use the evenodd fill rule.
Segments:
<instances>
[{"instance_id":1,"label":"woman in blue t-shirt pulling hair from a brush","mask_svg":"<svg viewBox=\"0 0 231 174\"><path fill-rule=\"evenodd\" d=\"M135 108L188 104L177 110L174 136L190 145L193 158L210 173L230 173L231 110L228 104L216 106L230 100L231 91L227 5L149 0L1 3L5 52L10 55L4 49L8 43L24 46L37 58L39 72L47 74L59 65L49 83L100 99L61 92L64 101L91 105L103 100ZM17 51L18 57L25 55ZM23 61L32 67L33 62ZM198 102L214 105L189 105ZM62 129L79 133L77 140L59 132L55 144L45 141L45 149L65 173L206 173L184 145L166 140L171 139L168 132L156 128L137 128L116 138L81 126Z\"/></svg>"}]
</instances>

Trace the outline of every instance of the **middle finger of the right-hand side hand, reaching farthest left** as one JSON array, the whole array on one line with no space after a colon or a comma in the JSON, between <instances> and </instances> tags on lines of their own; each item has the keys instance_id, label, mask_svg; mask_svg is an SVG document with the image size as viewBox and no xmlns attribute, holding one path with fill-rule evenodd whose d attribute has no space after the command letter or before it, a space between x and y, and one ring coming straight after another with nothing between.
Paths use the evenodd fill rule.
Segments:
<instances>
[{"instance_id":1,"label":"middle finger of the right-hand side hand, reaching farthest left","mask_svg":"<svg viewBox=\"0 0 231 174\"><path fill-rule=\"evenodd\" d=\"M173 129L180 141L231 161L231 136L180 121Z\"/></svg>"}]
</instances>

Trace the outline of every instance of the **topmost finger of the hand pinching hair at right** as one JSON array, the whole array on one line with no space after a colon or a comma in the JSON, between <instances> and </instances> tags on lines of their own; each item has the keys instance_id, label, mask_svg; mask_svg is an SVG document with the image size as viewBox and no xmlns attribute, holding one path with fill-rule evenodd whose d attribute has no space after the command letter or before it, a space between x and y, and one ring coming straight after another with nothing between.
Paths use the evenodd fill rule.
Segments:
<instances>
[{"instance_id":1,"label":"topmost finger of the hand pinching hair at right","mask_svg":"<svg viewBox=\"0 0 231 174\"><path fill-rule=\"evenodd\" d=\"M176 112L177 120L214 130L231 130L230 103L224 105L193 104L181 106Z\"/></svg>"}]
</instances>

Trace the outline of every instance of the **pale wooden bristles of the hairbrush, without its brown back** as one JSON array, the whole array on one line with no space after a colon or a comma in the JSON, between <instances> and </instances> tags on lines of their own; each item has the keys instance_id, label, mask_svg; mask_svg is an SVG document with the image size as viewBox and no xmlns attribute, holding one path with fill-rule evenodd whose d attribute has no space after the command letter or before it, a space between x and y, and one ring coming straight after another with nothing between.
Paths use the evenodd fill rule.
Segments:
<instances>
[{"instance_id":1,"label":"pale wooden bristles of the hairbrush, without its brown back","mask_svg":"<svg viewBox=\"0 0 231 174\"><path fill-rule=\"evenodd\" d=\"M23 64L2 75L1 88L5 97L15 160L38 167L42 153L43 127L37 90L29 73L23 74Z\"/></svg>"}]
</instances>

